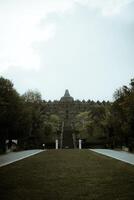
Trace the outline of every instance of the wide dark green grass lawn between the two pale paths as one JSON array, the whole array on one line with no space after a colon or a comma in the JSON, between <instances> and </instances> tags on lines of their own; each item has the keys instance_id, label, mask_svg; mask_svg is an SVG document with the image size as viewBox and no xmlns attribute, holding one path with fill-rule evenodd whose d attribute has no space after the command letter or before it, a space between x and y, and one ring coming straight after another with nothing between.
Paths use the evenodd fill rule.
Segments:
<instances>
[{"instance_id":1,"label":"wide dark green grass lawn between the two pale paths","mask_svg":"<svg viewBox=\"0 0 134 200\"><path fill-rule=\"evenodd\" d=\"M134 200L134 166L89 150L49 150L0 168L0 200Z\"/></svg>"}]
</instances>

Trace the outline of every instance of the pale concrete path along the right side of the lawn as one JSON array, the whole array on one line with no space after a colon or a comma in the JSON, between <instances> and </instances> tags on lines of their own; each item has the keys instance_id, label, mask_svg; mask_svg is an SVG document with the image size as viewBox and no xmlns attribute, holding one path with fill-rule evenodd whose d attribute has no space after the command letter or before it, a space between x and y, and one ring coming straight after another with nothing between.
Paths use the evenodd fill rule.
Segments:
<instances>
[{"instance_id":1,"label":"pale concrete path along the right side of the lawn","mask_svg":"<svg viewBox=\"0 0 134 200\"><path fill-rule=\"evenodd\" d=\"M90 150L134 165L134 154L132 153L127 153L124 151L115 151L110 149L90 149Z\"/></svg>"}]
</instances>

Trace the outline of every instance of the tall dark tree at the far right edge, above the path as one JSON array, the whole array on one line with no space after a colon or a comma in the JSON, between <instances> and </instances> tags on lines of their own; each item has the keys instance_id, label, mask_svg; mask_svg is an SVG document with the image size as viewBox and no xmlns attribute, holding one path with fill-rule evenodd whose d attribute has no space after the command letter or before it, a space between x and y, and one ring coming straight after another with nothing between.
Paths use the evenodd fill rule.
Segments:
<instances>
[{"instance_id":1,"label":"tall dark tree at the far right edge, above the path","mask_svg":"<svg viewBox=\"0 0 134 200\"><path fill-rule=\"evenodd\" d=\"M112 127L115 143L128 147L134 144L134 79L130 86L116 90L112 105Z\"/></svg>"}]
</instances>

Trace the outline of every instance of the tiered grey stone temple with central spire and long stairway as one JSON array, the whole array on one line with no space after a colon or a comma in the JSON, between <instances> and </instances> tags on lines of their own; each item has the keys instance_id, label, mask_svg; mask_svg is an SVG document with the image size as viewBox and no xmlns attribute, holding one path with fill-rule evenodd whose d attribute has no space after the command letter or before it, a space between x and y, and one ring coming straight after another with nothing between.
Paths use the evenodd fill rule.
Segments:
<instances>
[{"instance_id":1,"label":"tiered grey stone temple with central spire and long stairway","mask_svg":"<svg viewBox=\"0 0 134 200\"><path fill-rule=\"evenodd\" d=\"M60 138L62 148L75 148L75 116L80 112L90 111L93 105L96 105L94 101L74 100L74 98L70 96L68 89L65 90L64 96L61 97L59 101L44 102L45 114L48 116L55 114L60 117L62 123L62 138Z\"/></svg>"}]
</instances>

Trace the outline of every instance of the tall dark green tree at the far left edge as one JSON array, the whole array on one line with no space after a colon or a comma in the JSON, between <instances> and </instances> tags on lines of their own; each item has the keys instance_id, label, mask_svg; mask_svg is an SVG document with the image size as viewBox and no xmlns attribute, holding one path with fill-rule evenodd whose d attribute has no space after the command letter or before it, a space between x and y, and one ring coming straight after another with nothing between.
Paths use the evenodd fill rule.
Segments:
<instances>
[{"instance_id":1,"label":"tall dark green tree at the far left edge","mask_svg":"<svg viewBox=\"0 0 134 200\"><path fill-rule=\"evenodd\" d=\"M13 83L0 77L0 148L5 151L5 140L18 138L21 99Z\"/></svg>"}]
</instances>

